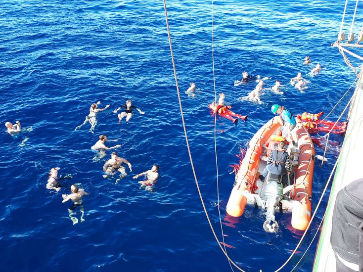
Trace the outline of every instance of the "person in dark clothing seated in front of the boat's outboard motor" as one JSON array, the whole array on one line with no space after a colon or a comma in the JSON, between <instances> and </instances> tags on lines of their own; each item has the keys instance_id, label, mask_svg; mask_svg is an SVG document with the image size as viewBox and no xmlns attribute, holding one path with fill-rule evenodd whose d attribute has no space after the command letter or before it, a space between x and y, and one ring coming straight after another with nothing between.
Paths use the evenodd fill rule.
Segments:
<instances>
[{"instance_id":1,"label":"person in dark clothing seated in front of the boat's outboard motor","mask_svg":"<svg viewBox=\"0 0 363 272\"><path fill-rule=\"evenodd\" d=\"M290 168L289 154L285 151L285 143L281 141L278 143L278 147L270 152L264 172L260 175L260 180L265 181L268 172L275 175L286 175L290 172Z\"/></svg>"}]
</instances>

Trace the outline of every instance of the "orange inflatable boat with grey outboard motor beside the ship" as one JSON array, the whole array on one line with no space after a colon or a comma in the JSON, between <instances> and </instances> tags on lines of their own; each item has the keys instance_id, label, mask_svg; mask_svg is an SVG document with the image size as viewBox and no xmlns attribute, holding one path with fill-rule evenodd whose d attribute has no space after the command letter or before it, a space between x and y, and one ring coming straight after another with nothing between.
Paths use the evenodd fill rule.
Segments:
<instances>
[{"instance_id":1,"label":"orange inflatable boat with grey outboard motor beside the ship","mask_svg":"<svg viewBox=\"0 0 363 272\"><path fill-rule=\"evenodd\" d=\"M236 173L234 187L227 203L227 213L240 217L246 204L263 208L266 221L263 227L268 232L275 232L278 224L275 211L291 212L292 227L305 230L311 219L311 196L315 163L314 144L307 129L300 119L291 135L295 146L285 146L290 155L292 173L287 177L268 174L265 181L259 179L267 165L269 153L277 147L282 136L280 117L276 116L267 122L251 139L246 154ZM287 181L286 181L287 180Z\"/></svg>"}]
</instances>

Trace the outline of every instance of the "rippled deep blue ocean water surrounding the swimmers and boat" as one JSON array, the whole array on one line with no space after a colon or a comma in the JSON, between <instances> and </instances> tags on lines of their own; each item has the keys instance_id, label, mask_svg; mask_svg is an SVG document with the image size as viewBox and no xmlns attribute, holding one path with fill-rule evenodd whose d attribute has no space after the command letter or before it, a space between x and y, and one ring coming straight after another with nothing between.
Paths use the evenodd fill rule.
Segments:
<instances>
[{"instance_id":1,"label":"rippled deep blue ocean water surrounding the swimmers and boat","mask_svg":"<svg viewBox=\"0 0 363 272\"><path fill-rule=\"evenodd\" d=\"M174 57L193 163L206 209L222 241L219 223L212 66L212 3L167 2ZM230 222L226 204L234 182L229 165L254 133L273 117L274 103L294 113L328 113L355 79L330 44L339 32L344 1L216 1L214 60L217 93L225 92L233 111L248 115L234 126L217 119L219 199L229 257L246 271L274 271L290 256L303 232L291 215L277 215L280 231L265 233L262 211L247 208ZM349 6L347 13L352 11ZM9 0L0 6L0 120L20 120L23 132L0 137L0 241L4 271L229 271L206 220L186 149L162 1ZM351 20L348 18L347 20ZM357 19L358 20L358 19ZM303 65L305 55L312 64ZM323 70L312 78L317 63ZM261 105L240 102L256 82L233 86L242 71L270 77ZM300 93L289 85L297 72L311 81ZM273 94L275 80L283 95ZM198 93L184 91L195 82ZM350 93L353 92L353 89ZM112 110L132 99L145 112L118 124ZM91 103L110 104L74 131ZM336 120L349 97L329 116ZM344 115L346 118L346 115ZM102 178L90 149L100 134L118 139L118 154L133 174L160 165L154 192L140 189L132 173L115 184ZM29 139L22 143L25 137ZM342 136L331 139L342 142ZM108 143L109 145L112 143ZM317 148L322 155L323 150ZM338 152L315 167L313 209ZM47 174L73 174L59 193L45 188ZM72 225L62 193L80 184L85 222ZM326 206L324 197L322 208ZM307 249L324 210L319 209L307 238L283 269L290 271ZM77 214L79 217L80 214ZM316 243L296 271L311 271Z\"/></svg>"}]
</instances>

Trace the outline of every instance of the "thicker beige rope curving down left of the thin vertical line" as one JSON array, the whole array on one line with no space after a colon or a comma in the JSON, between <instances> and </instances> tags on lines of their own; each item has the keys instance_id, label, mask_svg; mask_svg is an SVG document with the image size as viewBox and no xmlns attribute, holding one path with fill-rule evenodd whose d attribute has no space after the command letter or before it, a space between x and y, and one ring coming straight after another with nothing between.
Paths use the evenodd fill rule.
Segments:
<instances>
[{"instance_id":1,"label":"thicker beige rope curving down left of the thin vertical line","mask_svg":"<svg viewBox=\"0 0 363 272\"><path fill-rule=\"evenodd\" d=\"M183 115L183 111L182 111L182 106L181 106L181 98L180 98L180 91L179 91L179 86L178 86L178 77L177 77L177 71L176 71L176 68L175 68L175 61L174 61L174 54L173 54L173 46L172 46L172 39L171 39L171 35L170 35L170 28L169 28L169 21L168 21L168 12L167 12L167 8L166 8L166 0L163 0L164 2L164 11L165 11L165 20L166 20L166 26L167 26L167 30L168 30L168 38L169 38L169 45L170 45L170 52L171 52L171 56L172 56L172 62L173 62L173 69L174 69L174 77L175 77L175 83L176 83L176 87L177 87L177 93L178 93L178 99L179 99L179 106L180 106L180 111L181 111L181 121L182 121L182 124L183 124L183 130L184 130L184 136L185 136L185 142L186 142L186 147L188 149L188 154L189 154L189 159L190 159L190 164L191 164L191 168L192 168L192 171L193 171L193 176L194 176L194 180L195 180L195 184L197 186L197 189L198 189L198 193L199 193L199 197L200 197L200 200L202 202L202 206L203 206L203 209L204 209L204 213L207 217L207 220L208 220L208 223L209 223L209 226L211 227L211 230L213 232L213 235L218 243L218 245L220 246L222 252L226 255L227 259L239 270L239 271L242 271L244 272L241 268L239 268L230 258L229 256L227 255L227 252L224 251L220 241L218 240L218 237L217 237L217 234L216 232L214 231L214 228L212 226L212 223L211 223L211 220L208 216L208 212L207 212L207 209L205 207L205 204L204 204L204 201L203 201L203 197L202 197L202 194L200 192L200 188L199 188L199 184L198 184L198 180L197 180L197 177L196 177L196 174L195 174L195 169L194 169L194 164L193 164L193 159L191 157L191 153L190 153L190 147L189 147L189 141L188 141L188 136L187 136L187 133L186 133L186 128L185 128L185 121L184 121L184 115Z\"/></svg>"}]
</instances>

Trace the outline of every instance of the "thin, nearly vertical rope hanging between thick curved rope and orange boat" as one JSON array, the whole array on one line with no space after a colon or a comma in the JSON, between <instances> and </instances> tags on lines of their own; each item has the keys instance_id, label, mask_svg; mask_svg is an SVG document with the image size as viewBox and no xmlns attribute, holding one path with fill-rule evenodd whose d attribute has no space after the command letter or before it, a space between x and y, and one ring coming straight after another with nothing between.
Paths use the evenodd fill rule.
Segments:
<instances>
[{"instance_id":1,"label":"thin, nearly vertical rope hanging between thick curved rope and orange boat","mask_svg":"<svg viewBox=\"0 0 363 272\"><path fill-rule=\"evenodd\" d=\"M218 172L218 156L217 156L217 91L216 91L216 74L214 68L214 0L212 0L212 67L213 67L213 87L214 87L214 102L216 105L216 113L214 116L214 151L216 155L216 174L217 174L217 207L218 207L218 214L219 214L219 223L221 225L221 233L222 233L222 240L223 246L225 248L225 252L227 254L226 242L225 242L225 235L223 232L223 225L222 225L222 217L221 217L221 210L220 210L220 198L219 198L219 172ZM232 265L230 264L229 259L228 264L230 269L233 271Z\"/></svg>"}]
</instances>

